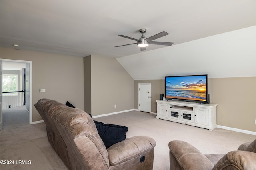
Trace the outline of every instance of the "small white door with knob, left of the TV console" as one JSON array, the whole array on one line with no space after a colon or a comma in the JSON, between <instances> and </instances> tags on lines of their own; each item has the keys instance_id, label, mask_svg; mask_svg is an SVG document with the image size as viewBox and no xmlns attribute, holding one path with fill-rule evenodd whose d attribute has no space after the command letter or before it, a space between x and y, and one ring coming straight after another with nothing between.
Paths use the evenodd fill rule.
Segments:
<instances>
[{"instance_id":1,"label":"small white door with knob, left of the TV console","mask_svg":"<svg viewBox=\"0 0 256 170\"><path fill-rule=\"evenodd\" d=\"M139 83L139 110L151 112L151 83Z\"/></svg>"}]
</instances>

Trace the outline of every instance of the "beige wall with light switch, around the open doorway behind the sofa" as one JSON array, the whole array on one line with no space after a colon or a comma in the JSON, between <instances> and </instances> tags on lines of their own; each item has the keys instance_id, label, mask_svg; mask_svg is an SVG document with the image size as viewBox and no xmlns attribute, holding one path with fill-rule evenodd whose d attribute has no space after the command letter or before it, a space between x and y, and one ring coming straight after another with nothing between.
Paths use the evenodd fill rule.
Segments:
<instances>
[{"instance_id":1,"label":"beige wall with light switch, around the open doorway behind the sofa","mask_svg":"<svg viewBox=\"0 0 256 170\"><path fill-rule=\"evenodd\" d=\"M32 61L32 121L42 120L34 104L40 98L69 101L84 109L83 58L0 47L0 58ZM45 88L45 93L39 93Z\"/></svg>"}]
</instances>

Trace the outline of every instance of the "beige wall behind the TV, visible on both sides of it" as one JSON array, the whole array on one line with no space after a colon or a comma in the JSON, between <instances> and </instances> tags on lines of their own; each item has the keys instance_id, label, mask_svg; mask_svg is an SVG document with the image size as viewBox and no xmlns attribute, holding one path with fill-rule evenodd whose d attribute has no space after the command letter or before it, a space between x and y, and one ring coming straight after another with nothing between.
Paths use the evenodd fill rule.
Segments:
<instances>
[{"instance_id":1,"label":"beige wall behind the TV, visible on both sides of it","mask_svg":"<svg viewBox=\"0 0 256 170\"><path fill-rule=\"evenodd\" d=\"M135 80L134 105L138 109L138 83L152 83L151 111L156 110L156 100L164 93L164 80ZM217 106L217 124L230 128L256 132L256 77L208 78L210 103ZM158 86L158 88L155 88Z\"/></svg>"}]
</instances>

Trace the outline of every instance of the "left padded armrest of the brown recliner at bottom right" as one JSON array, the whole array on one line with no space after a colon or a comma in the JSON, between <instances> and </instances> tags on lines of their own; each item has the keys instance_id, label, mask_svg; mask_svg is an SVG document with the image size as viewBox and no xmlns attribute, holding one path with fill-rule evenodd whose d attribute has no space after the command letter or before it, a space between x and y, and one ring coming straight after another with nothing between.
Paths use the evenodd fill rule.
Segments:
<instances>
[{"instance_id":1,"label":"left padded armrest of the brown recliner at bottom right","mask_svg":"<svg viewBox=\"0 0 256 170\"><path fill-rule=\"evenodd\" d=\"M187 142L171 141L169 149L183 170L212 170L214 167L214 164L204 154Z\"/></svg>"}]
</instances>

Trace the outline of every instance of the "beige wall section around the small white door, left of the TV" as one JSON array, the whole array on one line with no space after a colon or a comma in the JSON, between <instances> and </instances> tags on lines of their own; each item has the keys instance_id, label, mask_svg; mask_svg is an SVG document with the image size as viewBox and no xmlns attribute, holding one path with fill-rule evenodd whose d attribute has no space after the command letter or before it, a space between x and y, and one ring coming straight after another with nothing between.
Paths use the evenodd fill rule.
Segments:
<instances>
[{"instance_id":1,"label":"beige wall section around the small white door, left of the TV","mask_svg":"<svg viewBox=\"0 0 256 170\"><path fill-rule=\"evenodd\" d=\"M151 112L156 112L156 100L160 99L160 94L165 93L164 80L135 80L134 81L134 106L139 108L139 83L151 83Z\"/></svg>"}]
</instances>

